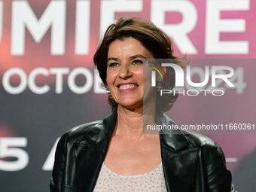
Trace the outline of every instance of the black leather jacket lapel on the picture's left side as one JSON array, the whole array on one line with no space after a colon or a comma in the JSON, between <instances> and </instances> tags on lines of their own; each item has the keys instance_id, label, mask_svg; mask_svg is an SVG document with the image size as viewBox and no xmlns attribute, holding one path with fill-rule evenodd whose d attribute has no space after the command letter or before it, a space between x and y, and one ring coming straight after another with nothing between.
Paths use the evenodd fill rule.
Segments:
<instances>
[{"instance_id":1,"label":"black leather jacket lapel on the picture's left side","mask_svg":"<svg viewBox=\"0 0 256 192\"><path fill-rule=\"evenodd\" d=\"M102 167L108 143L116 122L116 113L111 114L102 124L97 125L102 134L99 141L87 141L75 144L76 186L78 192L93 191Z\"/></svg>"}]
</instances>

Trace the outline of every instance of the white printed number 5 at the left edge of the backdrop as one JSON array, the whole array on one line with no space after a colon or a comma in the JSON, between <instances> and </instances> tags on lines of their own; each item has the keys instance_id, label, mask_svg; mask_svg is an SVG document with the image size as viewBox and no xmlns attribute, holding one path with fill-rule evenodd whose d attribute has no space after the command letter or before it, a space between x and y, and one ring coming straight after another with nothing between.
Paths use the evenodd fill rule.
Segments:
<instances>
[{"instance_id":1,"label":"white printed number 5 at the left edge of the backdrop","mask_svg":"<svg viewBox=\"0 0 256 192\"><path fill-rule=\"evenodd\" d=\"M20 147L26 147L26 138L1 138L0 139L0 170L18 171L24 169L29 163L29 155ZM14 148L19 147L19 148ZM15 161L2 160L3 158L17 158Z\"/></svg>"}]
</instances>

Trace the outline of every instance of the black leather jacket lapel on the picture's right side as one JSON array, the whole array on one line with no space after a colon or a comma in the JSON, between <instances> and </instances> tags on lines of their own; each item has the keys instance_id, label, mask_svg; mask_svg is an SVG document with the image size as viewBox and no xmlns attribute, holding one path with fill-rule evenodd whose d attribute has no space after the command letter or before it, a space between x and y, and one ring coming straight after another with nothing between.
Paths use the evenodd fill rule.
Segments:
<instances>
[{"instance_id":1,"label":"black leather jacket lapel on the picture's right side","mask_svg":"<svg viewBox=\"0 0 256 192\"><path fill-rule=\"evenodd\" d=\"M160 123L175 124L163 114ZM163 173L168 191L191 191L199 148L189 149L181 130L160 132Z\"/></svg>"}]
</instances>

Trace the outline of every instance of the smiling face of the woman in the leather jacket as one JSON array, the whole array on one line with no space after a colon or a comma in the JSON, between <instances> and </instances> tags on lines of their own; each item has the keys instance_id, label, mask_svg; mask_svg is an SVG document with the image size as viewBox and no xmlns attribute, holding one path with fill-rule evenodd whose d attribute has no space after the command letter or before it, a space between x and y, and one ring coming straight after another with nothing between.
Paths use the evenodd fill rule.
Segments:
<instances>
[{"instance_id":1,"label":"smiling face of the woman in the leather jacket","mask_svg":"<svg viewBox=\"0 0 256 192\"><path fill-rule=\"evenodd\" d=\"M143 99L154 96L151 78L144 79L143 83L143 62L152 58L135 38L116 40L109 45L107 84L118 105L142 108ZM144 90L143 84L147 84Z\"/></svg>"}]
</instances>

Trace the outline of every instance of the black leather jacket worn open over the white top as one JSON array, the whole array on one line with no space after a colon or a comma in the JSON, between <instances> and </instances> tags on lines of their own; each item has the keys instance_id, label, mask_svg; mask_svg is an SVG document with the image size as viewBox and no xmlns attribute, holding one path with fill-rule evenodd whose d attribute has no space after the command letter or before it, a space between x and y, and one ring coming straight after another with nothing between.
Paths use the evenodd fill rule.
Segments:
<instances>
[{"instance_id":1,"label":"black leather jacket worn open over the white top","mask_svg":"<svg viewBox=\"0 0 256 192\"><path fill-rule=\"evenodd\" d=\"M104 120L77 126L62 136L56 148L51 192L93 191L116 119L114 111ZM163 114L160 123L174 122ZM167 190L235 191L221 148L197 133L178 132L160 134Z\"/></svg>"}]
</instances>

